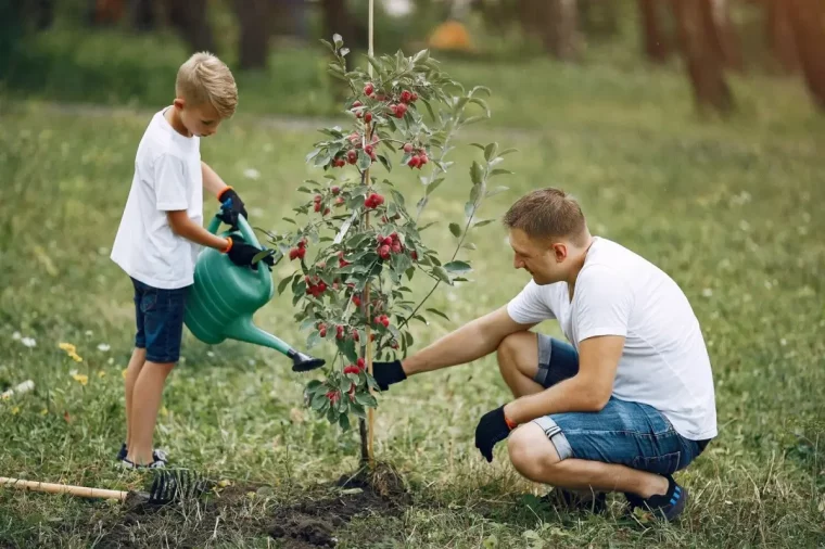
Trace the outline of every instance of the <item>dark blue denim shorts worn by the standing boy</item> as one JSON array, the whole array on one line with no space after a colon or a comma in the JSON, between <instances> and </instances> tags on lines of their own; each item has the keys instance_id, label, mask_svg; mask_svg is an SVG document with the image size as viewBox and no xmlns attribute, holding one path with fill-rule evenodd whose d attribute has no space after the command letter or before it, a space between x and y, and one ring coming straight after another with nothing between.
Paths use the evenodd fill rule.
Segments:
<instances>
[{"instance_id":1,"label":"dark blue denim shorts worn by the standing boy","mask_svg":"<svg viewBox=\"0 0 825 549\"><path fill-rule=\"evenodd\" d=\"M183 335L186 288L164 290L131 279L135 286L135 346L147 349L147 360L177 362Z\"/></svg>"}]
</instances>

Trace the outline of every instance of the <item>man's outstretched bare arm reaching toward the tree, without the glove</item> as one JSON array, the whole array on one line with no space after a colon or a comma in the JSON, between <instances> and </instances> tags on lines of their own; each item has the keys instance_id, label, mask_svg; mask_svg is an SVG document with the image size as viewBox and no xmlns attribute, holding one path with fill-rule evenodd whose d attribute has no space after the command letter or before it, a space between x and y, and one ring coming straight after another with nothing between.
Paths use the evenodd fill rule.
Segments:
<instances>
[{"instance_id":1,"label":"man's outstretched bare arm reaching toward the tree, without the glove","mask_svg":"<svg viewBox=\"0 0 825 549\"><path fill-rule=\"evenodd\" d=\"M465 324L402 362L409 376L416 373L464 365L484 357L498 348L506 336L530 330L535 324L512 320L504 306Z\"/></svg>"}]
</instances>

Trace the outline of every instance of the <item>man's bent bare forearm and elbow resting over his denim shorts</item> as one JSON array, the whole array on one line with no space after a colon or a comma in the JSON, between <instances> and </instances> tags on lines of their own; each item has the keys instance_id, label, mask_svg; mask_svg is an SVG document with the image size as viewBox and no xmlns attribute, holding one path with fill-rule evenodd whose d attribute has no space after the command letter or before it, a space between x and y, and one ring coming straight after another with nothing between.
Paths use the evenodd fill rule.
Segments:
<instances>
[{"instance_id":1,"label":"man's bent bare forearm and elbow resting over his denim shorts","mask_svg":"<svg viewBox=\"0 0 825 549\"><path fill-rule=\"evenodd\" d=\"M509 403L504 407L505 416L521 424L550 413L601 410L613 391L623 347L620 335L584 340L579 346L576 375Z\"/></svg>"}]
</instances>

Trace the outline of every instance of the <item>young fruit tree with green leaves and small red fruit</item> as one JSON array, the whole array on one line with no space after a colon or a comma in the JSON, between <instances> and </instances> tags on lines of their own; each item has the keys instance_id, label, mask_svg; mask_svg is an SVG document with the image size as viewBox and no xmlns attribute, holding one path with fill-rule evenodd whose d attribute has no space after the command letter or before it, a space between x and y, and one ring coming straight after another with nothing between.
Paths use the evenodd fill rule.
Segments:
<instances>
[{"instance_id":1,"label":"young fruit tree with green leaves and small red fruit","mask_svg":"<svg viewBox=\"0 0 825 549\"><path fill-rule=\"evenodd\" d=\"M285 257L294 264L294 272L280 281L278 292L292 292L295 321L308 332L307 348L334 345L326 379L308 382L305 401L343 430L350 429L351 414L359 418L361 458L371 462L371 430L367 432L364 420L378 405L372 359L406 356L414 343L411 321L427 324L429 315L447 318L424 308L424 303L440 284L468 281L465 274L471 267L459 253L474 250L467 240L472 229L493 221L477 216L485 199L507 190L488 182L510 174L496 166L515 150L472 143L481 152L469 165L464 219L444 228L456 245L443 260L422 237L434 224L418 221L455 167L447 156L456 149L456 133L490 117L483 99L490 90L479 86L465 91L427 50L414 56L401 51L367 55L372 75L361 68L347 72L348 50L341 37L334 35L332 43L322 41L333 56L329 72L352 92L345 105L352 124L347 129L320 130L325 138L306 161L325 174L299 188L309 195L294 208L303 220L284 218L296 228L267 235L276 261ZM391 181L409 177L408 171L422 189L415 205ZM406 285L416 274L432 283L418 303Z\"/></svg>"}]
</instances>

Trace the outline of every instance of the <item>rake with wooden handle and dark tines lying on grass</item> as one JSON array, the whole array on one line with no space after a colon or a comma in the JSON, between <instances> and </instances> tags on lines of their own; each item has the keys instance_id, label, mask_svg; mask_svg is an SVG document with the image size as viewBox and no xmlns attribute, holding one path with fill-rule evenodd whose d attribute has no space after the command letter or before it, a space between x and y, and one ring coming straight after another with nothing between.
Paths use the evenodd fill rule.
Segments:
<instances>
[{"instance_id":1,"label":"rake with wooden handle and dark tines lying on grass","mask_svg":"<svg viewBox=\"0 0 825 549\"><path fill-rule=\"evenodd\" d=\"M110 490L68 484L43 483L0 476L0 486L49 494L69 494L84 498L103 498L126 501L127 497L137 497L141 503L165 506L174 501L194 499L208 490L210 483L201 475L187 469L160 470L155 473L152 487L148 493Z\"/></svg>"}]
</instances>

